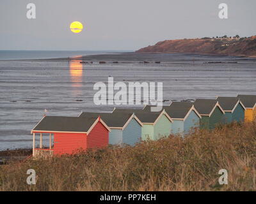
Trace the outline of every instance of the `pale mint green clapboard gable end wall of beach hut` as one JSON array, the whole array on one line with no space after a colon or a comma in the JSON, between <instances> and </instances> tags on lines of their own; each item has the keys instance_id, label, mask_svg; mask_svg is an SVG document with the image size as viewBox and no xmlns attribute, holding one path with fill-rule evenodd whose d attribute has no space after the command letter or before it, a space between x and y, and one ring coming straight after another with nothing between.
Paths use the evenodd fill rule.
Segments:
<instances>
[{"instance_id":1,"label":"pale mint green clapboard gable end wall of beach hut","mask_svg":"<svg viewBox=\"0 0 256 204\"><path fill-rule=\"evenodd\" d=\"M162 115L159 120L157 120L154 126L154 140L158 140L162 137L167 137L170 135L172 122L166 117L166 115Z\"/></svg>"}]
</instances>

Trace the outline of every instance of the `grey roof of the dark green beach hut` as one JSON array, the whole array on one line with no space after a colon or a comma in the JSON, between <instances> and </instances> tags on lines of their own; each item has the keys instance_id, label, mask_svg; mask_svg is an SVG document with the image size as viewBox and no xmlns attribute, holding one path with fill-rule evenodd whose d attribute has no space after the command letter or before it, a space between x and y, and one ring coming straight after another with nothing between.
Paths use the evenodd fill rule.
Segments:
<instances>
[{"instance_id":1,"label":"grey roof of the dark green beach hut","mask_svg":"<svg viewBox=\"0 0 256 204\"><path fill-rule=\"evenodd\" d=\"M216 99L196 99L193 105L198 113L202 115L209 115L216 103L218 103Z\"/></svg>"}]
</instances>

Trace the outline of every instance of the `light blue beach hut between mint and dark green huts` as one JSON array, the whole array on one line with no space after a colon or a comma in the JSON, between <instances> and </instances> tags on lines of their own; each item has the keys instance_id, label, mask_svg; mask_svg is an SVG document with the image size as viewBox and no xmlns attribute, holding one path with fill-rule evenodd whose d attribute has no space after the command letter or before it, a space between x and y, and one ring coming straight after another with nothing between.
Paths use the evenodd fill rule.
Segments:
<instances>
[{"instance_id":1,"label":"light blue beach hut between mint and dark green huts","mask_svg":"<svg viewBox=\"0 0 256 204\"><path fill-rule=\"evenodd\" d=\"M147 105L143 110L150 111L150 107ZM163 106L163 109L173 120L172 126L170 127L172 134L184 136L191 129L200 126L201 115L191 102L172 102L170 106Z\"/></svg>"}]
</instances>

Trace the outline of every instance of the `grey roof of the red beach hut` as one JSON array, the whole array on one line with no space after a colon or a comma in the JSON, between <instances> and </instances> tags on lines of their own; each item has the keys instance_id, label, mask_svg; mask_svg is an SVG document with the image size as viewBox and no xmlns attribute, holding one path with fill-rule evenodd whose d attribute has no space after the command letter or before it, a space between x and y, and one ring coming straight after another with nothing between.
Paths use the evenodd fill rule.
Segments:
<instances>
[{"instance_id":1,"label":"grey roof of the red beach hut","mask_svg":"<svg viewBox=\"0 0 256 204\"><path fill-rule=\"evenodd\" d=\"M33 130L67 131L86 133L97 120L97 117L79 118L62 116L45 116Z\"/></svg>"}]
</instances>

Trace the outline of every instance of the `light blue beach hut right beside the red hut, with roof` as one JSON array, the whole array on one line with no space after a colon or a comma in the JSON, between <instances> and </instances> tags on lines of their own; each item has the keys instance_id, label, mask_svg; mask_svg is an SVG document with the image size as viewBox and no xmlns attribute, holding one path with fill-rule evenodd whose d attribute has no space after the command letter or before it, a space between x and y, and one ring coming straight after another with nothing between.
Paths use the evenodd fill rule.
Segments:
<instances>
[{"instance_id":1,"label":"light blue beach hut right beside the red hut, with roof","mask_svg":"<svg viewBox=\"0 0 256 204\"><path fill-rule=\"evenodd\" d=\"M141 127L143 124L134 113L90 113L83 112L79 117L97 117L103 119L111 129L109 144L135 145L141 141Z\"/></svg>"}]
</instances>

